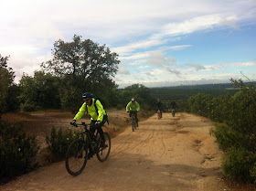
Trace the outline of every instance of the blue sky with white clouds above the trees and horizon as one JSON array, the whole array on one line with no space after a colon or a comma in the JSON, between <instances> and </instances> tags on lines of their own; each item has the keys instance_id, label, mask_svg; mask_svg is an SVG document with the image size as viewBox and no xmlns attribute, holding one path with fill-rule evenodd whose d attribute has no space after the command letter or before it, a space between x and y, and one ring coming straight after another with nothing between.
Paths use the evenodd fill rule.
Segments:
<instances>
[{"instance_id":1,"label":"blue sky with white clouds above the trees and horizon","mask_svg":"<svg viewBox=\"0 0 256 191\"><path fill-rule=\"evenodd\" d=\"M0 0L0 54L34 76L74 35L116 52L119 88L256 80L256 0Z\"/></svg>"}]
</instances>

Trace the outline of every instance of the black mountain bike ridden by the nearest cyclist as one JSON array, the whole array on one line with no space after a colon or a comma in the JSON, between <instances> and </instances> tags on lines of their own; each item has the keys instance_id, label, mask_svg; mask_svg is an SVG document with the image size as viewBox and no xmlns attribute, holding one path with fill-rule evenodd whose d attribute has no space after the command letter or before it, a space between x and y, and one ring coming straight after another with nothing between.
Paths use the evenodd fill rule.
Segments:
<instances>
[{"instance_id":1,"label":"black mountain bike ridden by the nearest cyclist","mask_svg":"<svg viewBox=\"0 0 256 191\"><path fill-rule=\"evenodd\" d=\"M80 138L73 141L69 145L66 154L66 169L70 175L80 175L85 168L87 160L96 154L99 161L104 162L108 159L111 152L111 136L109 133L104 132L105 144L101 143L101 135L96 130L91 133L87 129L90 124L81 122L80 124L74 123L75 127L83 126L84 130L80 133Z\"/></svg>"}]
</instances>

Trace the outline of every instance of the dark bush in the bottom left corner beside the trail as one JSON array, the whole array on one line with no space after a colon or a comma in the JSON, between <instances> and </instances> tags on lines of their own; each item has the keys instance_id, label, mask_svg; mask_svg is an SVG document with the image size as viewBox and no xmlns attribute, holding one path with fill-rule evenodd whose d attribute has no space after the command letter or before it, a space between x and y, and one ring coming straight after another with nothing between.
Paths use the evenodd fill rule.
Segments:
<instances>
[{"instance_id":1,"label":"dark bush in the bottom left corner beside the trail","mask_svg":"<svg viewBox=\"0 0 256 191\"><path fill-rule=\"evenodd\" d=\"M39 147L20 125L0 122L0 177L20 175L35 167Z\"/></svg>"}]
</instances>

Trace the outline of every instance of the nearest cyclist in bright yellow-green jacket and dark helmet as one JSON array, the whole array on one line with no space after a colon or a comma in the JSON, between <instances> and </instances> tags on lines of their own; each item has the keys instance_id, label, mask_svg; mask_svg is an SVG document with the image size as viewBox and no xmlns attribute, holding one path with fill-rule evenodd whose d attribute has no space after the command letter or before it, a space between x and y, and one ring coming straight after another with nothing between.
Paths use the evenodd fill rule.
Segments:
<instances>
[{"instance_id":1,"label":"nearest cyclist in bright yellow-green jacket and dark helmet","mask_svg":"<svg viewBox=\"0 0 256 191\"><path fill-rule=\"evenodd\" d=\"M88 114L91 115L90 131L91 133L94 133L96 129L98 130L101 135L101 146L103 147L105 144L105 138L101 127L105 122L108 121L108 115L101 105L101 101L92 97L93 95L90 92L82 94L84 103L80 107L78 113L75 115L73 121L70 123L75 124L87 111Z\"/></svg>"}]
</instances>

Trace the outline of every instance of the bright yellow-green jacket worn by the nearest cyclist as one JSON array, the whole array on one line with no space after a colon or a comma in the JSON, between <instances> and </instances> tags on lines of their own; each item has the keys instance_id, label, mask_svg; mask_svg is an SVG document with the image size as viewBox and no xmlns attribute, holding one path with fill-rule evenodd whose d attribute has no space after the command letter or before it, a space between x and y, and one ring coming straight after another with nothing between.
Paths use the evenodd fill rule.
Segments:
<instances>
[{"instance_id":1,"label":"bright yellow-green jacket worn by the nearest cyclist","mask_svg":"<svg viewBox=\"0 0 256 191\"><path fill-rule=\"evenodd\" d=\"M98 112L95 109L94 104L96 104L96 107L98 109ZM91 120L93 121L100 121L102 122L104 115L106 115L106 111L103 109L103 106L101 105L101 101L96 100L92 98L91 105L86 105L86 102L82 104L80 107L80 110L75 115L74 120L78 121L82 117L82 115L85 114L85 112L88 110L88 114L91 115Z\"/></svg>"}]
</instances>

